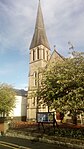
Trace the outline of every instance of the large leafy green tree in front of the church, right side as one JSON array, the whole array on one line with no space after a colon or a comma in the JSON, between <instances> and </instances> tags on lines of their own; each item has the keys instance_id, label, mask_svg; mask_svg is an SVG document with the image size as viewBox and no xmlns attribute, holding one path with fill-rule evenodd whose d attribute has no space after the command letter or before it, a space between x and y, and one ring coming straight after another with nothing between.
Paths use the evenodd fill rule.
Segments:
<instances>
[{"instance_id":1,"label":"large leafy green tree in front of the church, right side","mask_svg":"<svg viewBox=\"0 0 84 149\"><path fill-rule=\"evenodd\" d=\"M70 114L77 123L77 113L84 109L84 57L74 53L73 58L53 64L45 70L37 90L39 103L51 109Z\"/></svg>"}]
</instances>

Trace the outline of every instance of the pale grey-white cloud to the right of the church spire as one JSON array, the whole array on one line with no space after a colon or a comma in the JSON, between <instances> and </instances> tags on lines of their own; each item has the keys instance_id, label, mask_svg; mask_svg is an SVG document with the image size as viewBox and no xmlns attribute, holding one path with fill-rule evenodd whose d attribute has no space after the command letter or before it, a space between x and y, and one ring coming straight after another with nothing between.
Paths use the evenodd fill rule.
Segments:
<instances>
[{"instance_id":1,"label":"pale grey-white cloud to the right of the church spire","mask_svg":"<svg viewBox=\"0 0 84 149\"><path fill-rule=\"evenodd\" d=\"M51 45L56 44L58 50L60 47L65 49L65 53L69 40L71 40L75 46L81 47L84 39L84 1L52 0L51 2L50 0L46 0L45 2L43 1L43 3L43 12L46 14L44 17Z\"/></svg>"}]
</instances>

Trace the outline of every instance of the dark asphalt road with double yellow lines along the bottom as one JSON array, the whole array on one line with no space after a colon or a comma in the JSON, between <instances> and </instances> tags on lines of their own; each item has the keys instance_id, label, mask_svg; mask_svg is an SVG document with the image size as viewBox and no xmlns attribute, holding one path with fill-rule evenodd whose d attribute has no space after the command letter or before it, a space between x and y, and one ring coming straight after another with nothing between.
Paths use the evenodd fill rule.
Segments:
<instances>
[{"instance_id":1,"label":"dark asphalt road with double yellow lines along the bottom","mask_svg":"<svg viewBox=\"0 0 84 149\"><path fill-rule=\"evenodd\" d=\"M36 141L29 141L27 139L21 139L21 138L13 138L13 137L0 137L0 142L6 142L6 146L2 146L0 143L0 149L17 149L16 145L19 145L21 149L67 149L64 147L59 147L55 144L48 144L48 143L42 143L42 142L36 142ZM15 144L14 146L10 146L11 144ZM18 147L19 148L19 147Z\"/></svg>"}]
</instances>

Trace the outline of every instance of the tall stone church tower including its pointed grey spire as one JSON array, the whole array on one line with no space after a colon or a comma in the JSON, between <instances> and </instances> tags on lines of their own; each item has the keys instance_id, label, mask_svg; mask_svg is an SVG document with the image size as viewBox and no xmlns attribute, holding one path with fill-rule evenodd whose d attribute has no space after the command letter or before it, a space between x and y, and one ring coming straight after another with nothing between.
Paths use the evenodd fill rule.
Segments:
<instances>
[{"instance_id":1,"label":"tall stone church tower including its pointed grey spire","mask_svg":"<svg viewBox=\"0 0 84 149\"><path fill-rule=\"evenodd\" d=\"M37 83L37 79L39 78L38 70L44 68L49 59L50 59L50 46L46 36L43 14L39 0L34 35L30 44L29 87L28 87L28 105L27 105L28 120L36 120L38 101L37 98L34 98L32 96L32 94L38 88Z\"/></svg>"}]
</instances>

